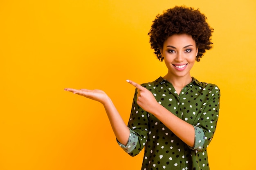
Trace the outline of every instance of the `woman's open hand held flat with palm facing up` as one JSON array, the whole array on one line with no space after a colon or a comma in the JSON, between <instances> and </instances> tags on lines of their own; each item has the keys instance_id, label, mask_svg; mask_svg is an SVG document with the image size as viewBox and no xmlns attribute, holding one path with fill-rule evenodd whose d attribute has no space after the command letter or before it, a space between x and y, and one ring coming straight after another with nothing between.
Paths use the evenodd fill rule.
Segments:
<instances>
[{"instance_id":1,"label":"woman's open hand held flat with palm facing up","mask_svg":"<svg viewBox=\"0 0 256 170\"><path fill-rule=\"evenodd\" d=\"M73 92L73 94L78 94L80 96L84 96L86 98L90 98L92 100L101 102L104 104L109 98L108 95L102 90L88 90L88 89L71 89L65 88L65 91Z\"/></svg>"}]
</instances>

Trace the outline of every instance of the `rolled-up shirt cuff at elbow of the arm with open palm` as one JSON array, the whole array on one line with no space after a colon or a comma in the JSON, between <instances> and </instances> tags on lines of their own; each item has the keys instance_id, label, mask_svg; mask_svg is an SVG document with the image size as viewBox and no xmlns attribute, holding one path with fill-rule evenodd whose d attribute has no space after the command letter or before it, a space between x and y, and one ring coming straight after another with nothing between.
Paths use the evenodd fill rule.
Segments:
<instances>
[{"instance_id":1,"label":"rolled-up shirt cuff at elbow of the arm with open palm","mask_svg":"<svg viewBox=\"0 0 256 170\"><path fill-rule=\"evenodd\" d=\"M138 137L135 134L134 131L132 131L130 129L130 136L129 139L127 141L126 146L121 144L118 140L117 143L119 144L119 146L126 152L126 153L131 153L132 150L136 147L137 143L138 143Z\"/></svg>"}]
</instances>

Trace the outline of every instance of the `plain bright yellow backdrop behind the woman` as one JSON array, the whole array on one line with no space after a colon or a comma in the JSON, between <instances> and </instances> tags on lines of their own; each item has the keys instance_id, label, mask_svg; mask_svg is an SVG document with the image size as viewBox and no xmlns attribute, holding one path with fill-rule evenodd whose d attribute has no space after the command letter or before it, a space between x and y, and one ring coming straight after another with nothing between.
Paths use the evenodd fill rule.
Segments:
<instances>
[{"instance_id":1,"label":"plain bright yellow backdrop behind the woman","mask_svg":"<svg viewBox=\"0 0 256 170\"><path fill-rule=\"evenodd\" d=\"M139 170L103 107L64 92L99 88L128 122L134 88L166 74L148 43L158 13L199 8L212 50L191 71L221 90L211 170L255 169L255 0L1 0L0 170Z\"/></svg>"}]
</instances>

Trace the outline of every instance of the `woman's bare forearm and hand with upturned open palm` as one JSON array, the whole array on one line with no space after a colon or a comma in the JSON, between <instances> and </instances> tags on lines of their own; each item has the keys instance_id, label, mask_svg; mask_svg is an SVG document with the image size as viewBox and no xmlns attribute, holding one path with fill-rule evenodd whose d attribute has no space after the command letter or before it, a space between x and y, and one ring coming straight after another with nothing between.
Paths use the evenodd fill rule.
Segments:
<instances>
[{"instance_id":1,"label":"woman's bare forearm and hand with upturned open palm","mask_svg":"<svg viewBox=\"0 0 256 170\"><path fill-rule=\"evenodd\" d=\"M101 104L104 106L106 110L112 130L115 133L117 140L123 145L127 144L130 135L130 129L126 126L124 120L121 118L112 100L108 97L108 95L105 92L97 89L88 90L65 88L64 90L72 92L73 94L78 94L80 96L84 96L86 98L90 98L92 100L101 102Z\"/></svg>"}]
</instances>

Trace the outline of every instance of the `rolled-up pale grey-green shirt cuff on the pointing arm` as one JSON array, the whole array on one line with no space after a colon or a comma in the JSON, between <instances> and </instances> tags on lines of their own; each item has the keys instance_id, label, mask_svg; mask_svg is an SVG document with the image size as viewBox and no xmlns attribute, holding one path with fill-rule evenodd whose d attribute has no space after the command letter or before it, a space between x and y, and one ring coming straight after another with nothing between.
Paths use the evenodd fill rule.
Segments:
<instances>
[{"instance_id":1,"label":"rolled-up pale grey-green shirt cuff on the pointing arm","mask_svg":"<svg viewBox=\"0 0 256 170\"><path fill-rule=\"evenodd\" d=\"M195 144L194 144L194 147L190 147L190 148L193 150L200 151L204 146L204 141L205 141L204 131L197 126L194 126L194 129L195 129Z\"/></svg>"}]
</instances>

